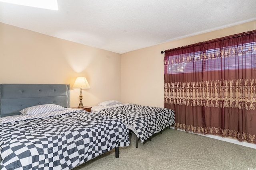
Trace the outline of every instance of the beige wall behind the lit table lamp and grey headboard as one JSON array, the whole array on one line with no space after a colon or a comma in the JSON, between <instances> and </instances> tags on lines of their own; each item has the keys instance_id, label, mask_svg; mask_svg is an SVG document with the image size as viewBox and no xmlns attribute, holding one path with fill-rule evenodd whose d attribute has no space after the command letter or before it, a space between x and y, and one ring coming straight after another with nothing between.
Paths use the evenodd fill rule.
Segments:
<instances>
[{"instance_id":1,"label":"beige wall behind the lit table lamp and grey headboard","mask_svg":"<svg viewBox=\"0 0 256 170\"><path fill-rule=\"evenodd\" d=\"M70 84L85 76L83 104L121 100L121 55L0 23L0 83ZM79 104L71 89L71 107Z\"/></svg>"}]
</instances>

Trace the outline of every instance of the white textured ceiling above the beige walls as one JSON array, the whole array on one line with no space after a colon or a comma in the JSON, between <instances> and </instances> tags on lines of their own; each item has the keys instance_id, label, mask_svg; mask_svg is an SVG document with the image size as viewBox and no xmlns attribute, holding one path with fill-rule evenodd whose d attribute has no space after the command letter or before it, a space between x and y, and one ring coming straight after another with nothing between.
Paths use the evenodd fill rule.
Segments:
<instances>
[{"instance_id":1,"label":"white textured ceiling above the beige walls","mask_svg":"<svg viewBox=\"0 0 256 170\"><path fill-rule=\"evenodd\" d=\"M116 53L256 20L256 0L58 0L58 10L0 2L0 22Z\"/></svg>"}]
</instances>

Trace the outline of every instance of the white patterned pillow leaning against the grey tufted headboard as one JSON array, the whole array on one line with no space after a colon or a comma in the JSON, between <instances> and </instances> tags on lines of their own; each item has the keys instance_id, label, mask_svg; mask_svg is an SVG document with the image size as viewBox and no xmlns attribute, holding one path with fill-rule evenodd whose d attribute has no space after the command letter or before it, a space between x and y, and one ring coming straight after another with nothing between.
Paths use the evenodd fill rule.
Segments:
<instances>
[{"instance_id":1,"label":"white patterned pillow leaning against the grey tufted headboard","mask_svg":"<svg viewBox=\"0 0 256 170\"><path fill-rule=\"evenodd\" d=\"M47 113L51 111L61 111L61 110L66 110L66 108L56 104L42 104L42 105L37 105L37 106L32 106L32 107L27 107L25 109L22 109L20 113L22 113L22 115L35 115L40 113Z\"/></svg>"}]
</instances>

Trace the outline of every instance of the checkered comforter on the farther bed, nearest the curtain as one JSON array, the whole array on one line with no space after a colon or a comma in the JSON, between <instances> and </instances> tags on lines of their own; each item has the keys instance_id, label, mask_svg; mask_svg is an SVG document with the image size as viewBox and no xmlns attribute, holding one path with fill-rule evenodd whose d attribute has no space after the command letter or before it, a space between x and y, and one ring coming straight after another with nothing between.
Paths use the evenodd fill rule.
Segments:
<instances>
[{"instance_id":1,"label":"checkered comforter on the farther bed, nearest the curtain","mask_svg":"<svg viewBox=\"0 0 256 170\"><path fill-rule=\"evenodd\" d=\"M174 124L174 111L161 107L130 104L128 106L101 109L98 114L133 125L136 130L135 134L138 134L137 137L140 138L142 143L155 133Z\"/></svg>"}]
</instances>

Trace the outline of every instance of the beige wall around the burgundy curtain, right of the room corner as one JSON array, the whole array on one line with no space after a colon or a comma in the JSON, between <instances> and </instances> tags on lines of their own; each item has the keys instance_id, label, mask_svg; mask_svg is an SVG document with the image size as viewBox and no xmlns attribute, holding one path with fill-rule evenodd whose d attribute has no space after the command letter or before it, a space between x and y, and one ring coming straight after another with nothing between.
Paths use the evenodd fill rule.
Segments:
<instances>
[{"instance_id":1,"label":"beige wall around the burgundy curtain, right of the room corner","mask_svg":"<svg viewBox=\"0 0 256 170\"><path fill-rule=\"evenodd\" d=\"M256 21L122 54L122 102L164 107L164 54L161 51L254 29Z\"/></svg>"}]
</instances>

